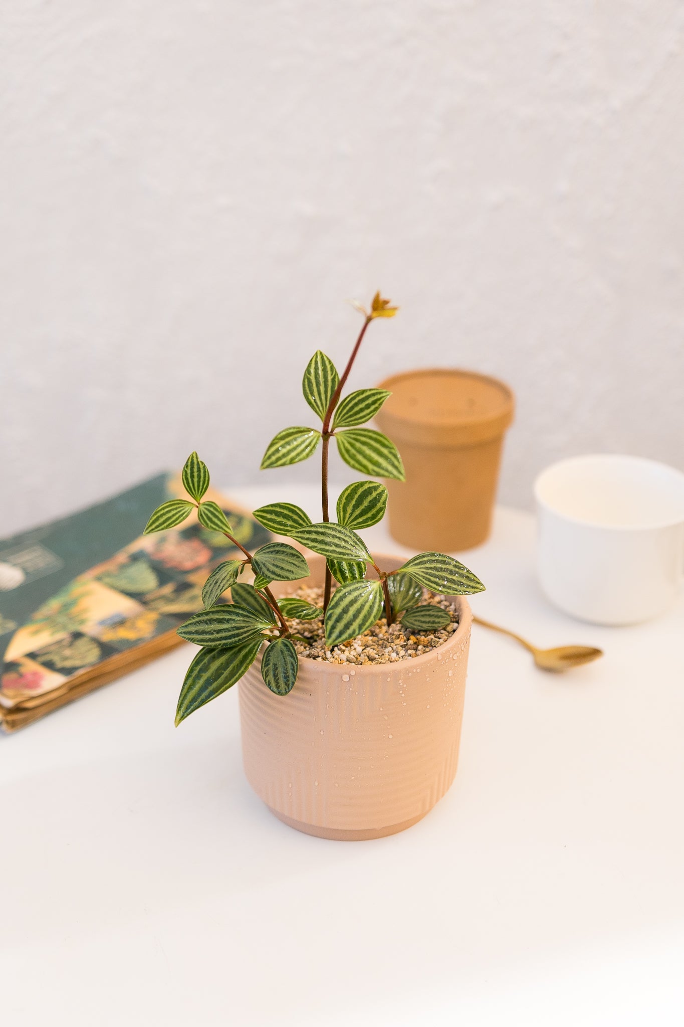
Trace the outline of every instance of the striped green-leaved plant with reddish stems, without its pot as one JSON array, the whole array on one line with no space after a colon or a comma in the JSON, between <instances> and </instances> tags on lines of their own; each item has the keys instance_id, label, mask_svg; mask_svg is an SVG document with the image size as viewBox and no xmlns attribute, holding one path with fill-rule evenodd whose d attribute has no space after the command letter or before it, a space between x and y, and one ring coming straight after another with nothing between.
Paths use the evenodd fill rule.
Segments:
<instances>
[{"instance_id":1,"label":"striped green-leaved plant with reddish stems, without its pot","mask_svg":"<svg viewBox=\"0 0 684 1027\"><path fill-rule=\"evenodd\" d=\"M325 618L328 648L362 635L381 617L388 625L403 614L401 623L421 633L444 627L450 620L446 610L420 605L423 586L446 595L472 595L484 585L453 557L443 553L420 553L400 570L385 572L375 564L357 529L383 520L387 489L379 482L348 485L336 504L336 522L330 521L328 504L328 448L334 439L343 460L354 470L377 478L404 481L404 467L396 446L381 432L362 427L380 409L389 392L364 388L343 397L359 347L370 322L393 317L397 307L376 293L370 310L354 304L364 316L363 327L339 377L332 360L318 350L304 374L304 395L321 423L320 428L284 428L269 444L261 468L283 467L312 456L321 444L322 520L312 522L293 503L270 503L254 510L259 524L325 557L323 605L316 607L295 597L276 599L274 581L295 581L309 575L303 554L286 542L269 542L249 553L233 535L226 515L213 500L204 500L209 471L197 453L183 469L183 485L190 498L162 503L148 522L146 534L174 528L193 507L203 527L223 532L242 553L216 567L202 591L204 610L178 627L177 634L202 648L193 659L180 690L175 723L215 698L238 681L256 659L263 646L261 677L276 695L292 690L298 656L287 618ZM248 567L253 582L238 581ZM372 568L374 577L367 577ZM336 587L332 589L333 579ZM222 601L231 589L232 603Z\"/></svg>"}]
</instances>

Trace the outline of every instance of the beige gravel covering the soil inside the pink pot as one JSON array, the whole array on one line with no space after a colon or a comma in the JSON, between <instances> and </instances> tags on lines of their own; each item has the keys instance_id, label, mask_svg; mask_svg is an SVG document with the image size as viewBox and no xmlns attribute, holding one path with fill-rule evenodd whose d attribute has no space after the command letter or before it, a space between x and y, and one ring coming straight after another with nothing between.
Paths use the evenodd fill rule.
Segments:
<instances>
[{"instance_id":1,"label":"beige gravel covering the soil inside the pink pot","mask_svg":"<svg viewBox=\"0 0 684 1027\"><path fill-rule=\"evenodd\" d=\"M315 606L323 605L322 588L300 587L293 595ZM451 616L451 623L436 632L413 634L409 629L404 631L401 621L388 627L387 620L383 617L363 635L358 635L350 642L343 642L341 645L334 646L333 649L325 647L325 629L322 617L317 620L297 620L295 617L288 617L287 623L292 634L299 636L298 639L292 639L299 656L317 659L320 662L352 663L354 665L394 663L397 660L411 659L420 656L424 652L430 652L431 649L436 649L448 641L458 626L458 613L455 604L445 599L444 596L437 596L424 588L423 603L441 606L443 610L447 610Z\"/></svg>"}]
</instances>

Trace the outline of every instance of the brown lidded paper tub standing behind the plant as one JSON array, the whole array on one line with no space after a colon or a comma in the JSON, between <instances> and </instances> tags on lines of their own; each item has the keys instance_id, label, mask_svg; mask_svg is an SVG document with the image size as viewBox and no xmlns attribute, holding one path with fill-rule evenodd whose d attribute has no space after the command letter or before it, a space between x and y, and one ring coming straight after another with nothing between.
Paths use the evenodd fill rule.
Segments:
<instances>
[{"instance_id":1,"label":"brown lidded paper tub standing behind the plant","mask_svg":"<svg viewBox=\"0 0 684 1027\"><path fill-rule=\"evenodd\" d=\"M450 553L489 535L513 393L471 371L395 375L377 425L401 453L405 482L386 482L390 532L415 549Z\"/></svg>"}]
</instances>

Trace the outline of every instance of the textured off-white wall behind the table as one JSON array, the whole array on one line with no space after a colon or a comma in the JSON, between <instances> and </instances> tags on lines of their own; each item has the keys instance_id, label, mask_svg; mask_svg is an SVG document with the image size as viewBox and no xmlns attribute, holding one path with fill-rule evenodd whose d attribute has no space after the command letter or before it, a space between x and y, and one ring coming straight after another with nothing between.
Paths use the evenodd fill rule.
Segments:
<instances>
[{"instance_id":1,"label":"textured off-white wall behind the table","mask_svg":"<svg viewBox=\"0 0 684 1027\"><path fill-rule=\"evenodd\" d=\"M313 350L344 363L344 299L378 287L401 314L353 385L509 381L504 500L572 453L684 467L682 2L0 16L0 531L193 448L217 482L258 480L310 416Z\"/></svg>"}]
</instances>

